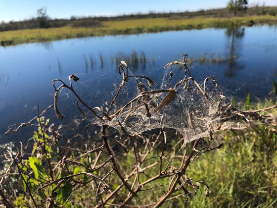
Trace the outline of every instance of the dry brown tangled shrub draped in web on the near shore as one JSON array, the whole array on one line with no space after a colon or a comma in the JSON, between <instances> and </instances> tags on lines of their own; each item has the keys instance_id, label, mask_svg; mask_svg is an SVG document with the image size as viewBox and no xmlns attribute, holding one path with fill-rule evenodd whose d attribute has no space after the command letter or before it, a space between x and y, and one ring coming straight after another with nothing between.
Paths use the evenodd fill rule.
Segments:
<instances>
[{"instance_id":1,"label":"dry brown tangled shrub draped in web on the near shore","mask_svg":"<svg viewBox=\"0 0 277 208\"><path fill-rule=\"evenodd\" d=\"M58 110L59 93L63 88L70 90L77 99L83 120L90 121L86 126L89 142L77 147L72 142L63 142L63 135L59 133L62 127L47 126L42 116L46 110L38 112L35 118L39 120L36 125L39 130L33 138L31 156L23 151L28 149L28 145L18 147L15 153L6 156L11 164L16 164L16 168L9 171L20 174L28 191L26 195L31 199L30 205L58 207L72 203L70 197L78 195L82 187L92 190L95 200L90 203L96 208L105 205L145 207L130 203L139 198L140 193L157 188L162 188L165 194L149 206L160 207L177 197L184 201L193 199L200 185L206 187L206 196L209 197L208 184L193 179L187 173L189 164L199 156L223 147L223 144L212 144L214 135L219 131L242 131L257 124L276 125L277 117L272 111L277 105L239 110L223 95L214 78L207 77L203 84L198 83L191 76L185 57L183 62L173 61L165 65L165 70L171 66L170 77L173 77L173 66L177 64L183 67L184 78L177 83L170 83L170 79L165 88L153 90L154 82L150 78L130 75L129 67L122 61L118 69L122 82L106 112L85 103L78 95L72 85L72 80L79 81L75 74L69 76L69 84L61 79L53 80L54 104L46 110L53 106L56 116L62 119L64 115ZM136 80L137 95L117 106L115 103L129 79ZM57 82L61 83L59 87L56 87ZM172 87L168 87L170 84ZM202 108L197 109L195 102L199 102ZM79 103L94 117L89 117ZM177 116L183 116L183 122L176 122ZM14 131L22 126L35 125L32 124L35 118L19 124ZM101 126L101 131L93 136L97 137L94 139L91 132L97 126ZM175 145L169 146L168 135L177 135L181 139L176 139ZM76 138L82 139L78 135ZM204 146L199 147L200 141ZM132 166L126 165L130 157ZM168 181L167 188L161 182L165 180ZM65 194L66 190L69 194ZM0 195L2 204L13 207L2 189Z\"/></svg>"}]
</instances>

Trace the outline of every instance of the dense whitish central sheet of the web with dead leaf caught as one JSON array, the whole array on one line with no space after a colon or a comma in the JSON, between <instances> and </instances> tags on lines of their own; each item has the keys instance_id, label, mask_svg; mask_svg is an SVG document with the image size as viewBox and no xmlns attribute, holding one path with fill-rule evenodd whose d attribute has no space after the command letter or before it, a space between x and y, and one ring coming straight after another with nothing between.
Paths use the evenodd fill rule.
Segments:
<instances>
[{"instance_id":1,"label":"dense whitish central sheet of the web with dead leaf caught","mask_svg":"<svg viewBox=\"0 0 277 208\"><path fill-rule=\"evenodd\" d=\"M160 89L152 89L138 78L139 96L128 102L130 104L120 109L116 117L107 124L118 130L125 129L123 131L129 135L156 128L173 128L186 137L185 142L208 136L206 124L217 125L216 120L212 120L210 116L217 107L217 101L213 97L219 96L220 92L218 88L214 88L205 92L207 96L204 96L201 85L190 78L187 72L184 71L183 81L174 85L171 70L164 69ZM114 108L116 113L117 108Z\"/></svg>"}]
</instances>

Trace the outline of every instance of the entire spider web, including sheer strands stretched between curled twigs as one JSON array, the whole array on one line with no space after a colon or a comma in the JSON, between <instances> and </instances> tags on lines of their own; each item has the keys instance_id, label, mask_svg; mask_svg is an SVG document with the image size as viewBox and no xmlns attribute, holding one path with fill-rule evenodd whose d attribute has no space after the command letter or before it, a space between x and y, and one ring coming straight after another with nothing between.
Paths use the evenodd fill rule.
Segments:
<instances>
[{"instance_id":1,"label":"entire spider web, including sheer strands stretched between curled twigs","mask_svg":"<svg viewBox=\"0 0 277 208\"><path fill-rule=\"evenodd\" d=\"M136 69L128 68L131 76L124 82L112 103L126 75L126 72L120 75L118 67L120 66L97 71L93 78L87 74L78 74L83 81L73 85L84 102L100 108L96 110L99 117L101 111L108 111L109 119L99 119L81 104L77 106L75 96L66 89L61 91L63 106L59 108L70 111L71 118L105 124L128 136L157 128L176 129L184 136L185 142L209 136L222 126L233 125L237 121L235 119L222 123L223 115L219 113L219 107L230 106L230 98L224 94L216 80L211 77L200 79L205 77L204 74L198 74L200 78L197 80L193 79L182 64L151 70L150 75L155 76L157 72L160 74L156 76L153 87L149 86L146 79L132 77L141 74ZM141 96L141 93L144 94Z\"/></svg>"}]
</instances>

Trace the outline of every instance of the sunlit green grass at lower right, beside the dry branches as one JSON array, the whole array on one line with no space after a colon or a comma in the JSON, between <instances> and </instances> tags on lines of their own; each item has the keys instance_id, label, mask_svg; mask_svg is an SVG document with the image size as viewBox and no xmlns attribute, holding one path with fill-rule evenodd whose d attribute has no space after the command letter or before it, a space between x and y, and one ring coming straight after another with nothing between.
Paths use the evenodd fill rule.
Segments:
<instances>
[{"instance_id":1,"label":"sunlit green grass at lower right, beside the dry branches","mask_svg":"<svg viewBox=\"0 0 277 208\"><path fill-rule=\"evenodd\" d=\"M276 133L257 127L240 134L227 132L218 135L217 139L225 143L224 148L200 157L188 168L193 173L193 179L209 184L210 197L205 197L205 187L200 186L193 200L188 199L184 203L186 199L181 196L166 202L164 207L276 207ZM152 155L155 156L155 153ZM127 161L126 167L129 162L133 162L132 158ZM163 184L167 185L168 180L165 179ZM149 184L150 187L154 185ZM163 189L142 193L136 198L136 203L148 205L157 201L164 194ZM115 199L113 203L117 202L120 199Z\"/></svg>"}]
</instances>

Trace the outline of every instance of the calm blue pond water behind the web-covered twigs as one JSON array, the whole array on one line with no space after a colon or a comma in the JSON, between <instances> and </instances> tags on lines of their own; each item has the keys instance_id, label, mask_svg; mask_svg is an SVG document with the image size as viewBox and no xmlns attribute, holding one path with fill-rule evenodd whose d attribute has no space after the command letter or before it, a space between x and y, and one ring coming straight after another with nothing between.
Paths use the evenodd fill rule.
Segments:
<instances>
[{"instance_id":1,"label":"calm blue pond water behind the web-covered twigs","mask_svg":"<svg viewBox=\"0 0 277 208\"><path fill-rule=\"evenodd\" d=\"M155 82L163 79L163 66L187 56L194 77L217 79L228 96L243 101L264 100L273 90L277 72L277 26L170 31L117 35L0 47L0 143L26 139L24 131L5 136L8 125L28 121L53 103L51 81L77 73L76 90L91 105L111 99L121 82L118 65L129 64L136 75ZM181 72L176 76L182 79ZM60 108L64 123L72 121L74 99L64 91ZM58 122L53 111L46 115ZM59 121L60 122L60 121Z\"/></svg>"}]
</instances>

